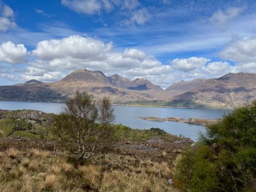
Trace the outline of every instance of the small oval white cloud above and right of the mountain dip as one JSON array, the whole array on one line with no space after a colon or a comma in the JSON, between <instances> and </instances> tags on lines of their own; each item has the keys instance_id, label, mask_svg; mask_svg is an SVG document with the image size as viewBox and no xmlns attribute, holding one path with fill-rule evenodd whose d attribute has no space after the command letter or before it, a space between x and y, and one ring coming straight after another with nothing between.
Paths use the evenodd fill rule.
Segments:
<instances>
[{"instance_id":1,"label":"small oval white cloud above and right of the mountain dip","mask_svg":"<svg viewBox=\"0 0 256 192\"><path fill-rule=\"evenodd\" d=\"M177 58L171 61L171 65L174 69L186 72L202 67L209 61L210 59L203 57L191 57L186 59Z\"/></svg>"}]
</instances>

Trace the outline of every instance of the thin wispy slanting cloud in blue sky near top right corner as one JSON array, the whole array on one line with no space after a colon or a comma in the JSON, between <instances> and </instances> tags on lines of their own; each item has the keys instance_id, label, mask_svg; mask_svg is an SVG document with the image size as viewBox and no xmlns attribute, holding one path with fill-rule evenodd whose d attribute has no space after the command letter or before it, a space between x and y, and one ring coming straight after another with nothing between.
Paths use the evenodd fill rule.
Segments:
<instances>
[{"instance_id":1,"label":"thin wispy slanting cloud in blue sky near top right corner","mask_svg":"<svg viewBox=\"0 0 256 192\"><path fill-rule=\"evenodd\" d=\"M236 18L244 8L230 7L225 11L218 10L214 12L210 21L221 31L226 30L230 26L230 21Z\"/></svg>"}]
</instances>

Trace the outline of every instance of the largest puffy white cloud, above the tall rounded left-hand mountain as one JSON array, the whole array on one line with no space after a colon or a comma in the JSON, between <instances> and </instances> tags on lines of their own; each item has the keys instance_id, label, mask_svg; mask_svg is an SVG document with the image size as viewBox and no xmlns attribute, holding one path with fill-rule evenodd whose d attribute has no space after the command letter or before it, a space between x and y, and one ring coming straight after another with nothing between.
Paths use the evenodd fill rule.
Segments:
<instances>
[{"instance_id":1,"label":"largest puffy white cloud, above the tall rounded left-hand mountain","mask_svg":"<svg viewBox=\"0 0 256 192\"><path fill-rule=\"evenodd\" d=\"M38 80L58 80L73 70L87 68L102 70L104 73L120 73L129 76L131 69L138 74L145 70L161 67L160 61L138 49L125 49L123 52L113 51L112 42L104 43L90 37L72 35L67 38L41 41L32 50L35 61L29 62L23 78L35 76ZM157 70L155 70L157 71ZM49 73L62 72L51 76ZM48 74L48 75L46 75Z\"/></svg>"}]
</instances>

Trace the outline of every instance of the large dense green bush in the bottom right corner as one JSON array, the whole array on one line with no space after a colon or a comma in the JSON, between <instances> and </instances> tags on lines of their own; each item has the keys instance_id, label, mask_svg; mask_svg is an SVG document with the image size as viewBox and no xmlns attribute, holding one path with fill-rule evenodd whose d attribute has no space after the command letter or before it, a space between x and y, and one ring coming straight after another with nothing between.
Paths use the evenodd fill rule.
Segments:
<instances>
[{"instance_id":1,"label":"large dense green bush in the bottom right corner","mask_svg":"<svg viewBox=\"0 0 256 192\"><path fill-rule=\"evenodd\" d=\"M256 191L256 102L208 125L181 157L175 178L185 191Z\"/></svg>"}]
</instances>

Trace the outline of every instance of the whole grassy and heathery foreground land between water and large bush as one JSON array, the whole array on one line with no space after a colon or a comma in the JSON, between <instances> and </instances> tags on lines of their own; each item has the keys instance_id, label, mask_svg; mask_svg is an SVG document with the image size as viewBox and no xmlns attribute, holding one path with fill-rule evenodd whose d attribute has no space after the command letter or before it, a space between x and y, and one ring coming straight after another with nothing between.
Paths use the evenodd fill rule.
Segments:
<instances>
[{"instance_id":1,"label":"whole grassy and heathery foreground land between water and large bush","mask_svg":"<svg viewBox=\"0 0 256 192\"><path fill-rule=\"evenodd\" d=\"M0 192L178 191L168 180L188 138L112 125L105 158L96 151L79 164L52 135L52 114L0 110L0 117Z\"/></svg>"}]
</instances>

